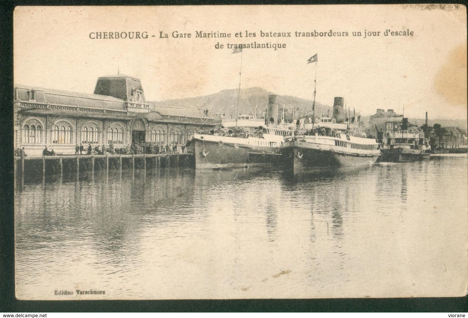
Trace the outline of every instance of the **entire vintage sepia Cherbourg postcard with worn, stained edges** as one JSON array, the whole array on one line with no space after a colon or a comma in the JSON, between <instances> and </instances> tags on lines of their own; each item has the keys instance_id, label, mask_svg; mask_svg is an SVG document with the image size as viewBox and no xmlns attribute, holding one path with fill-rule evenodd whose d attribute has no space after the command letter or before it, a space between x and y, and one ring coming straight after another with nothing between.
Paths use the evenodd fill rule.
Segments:
<instances>
[{"instance_id":1,"label":"entire vintage sepia Cherbourg postcard with worn, stained edges","mask_svg":"<svg viewBox=\"0 0 468 318\"><path fill-rule=\"evenodd\" d=\"M16 7L16 297L466 295L466 13Z\"/></svg>"}]
</instances>

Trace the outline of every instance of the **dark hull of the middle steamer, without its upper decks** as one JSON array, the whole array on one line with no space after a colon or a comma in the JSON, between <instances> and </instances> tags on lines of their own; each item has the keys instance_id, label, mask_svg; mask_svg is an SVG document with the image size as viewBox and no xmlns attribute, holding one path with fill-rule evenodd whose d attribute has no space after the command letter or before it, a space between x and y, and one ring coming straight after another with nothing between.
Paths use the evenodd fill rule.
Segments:
<instances>
[{"instance_id":1,"label":"dark hull of the middle steamer, without its upper decks","mask_svg":"<svg viewBox=\"0 0 468 318\"><path fill-rule=\"evenodd\" d=\"M318 172L324 168L363 168L371 166L379 154L350 154L332 150L312 149L307 143L287 145L283 148L285 168L294 174Z\"/></svg>"}]
</instances>

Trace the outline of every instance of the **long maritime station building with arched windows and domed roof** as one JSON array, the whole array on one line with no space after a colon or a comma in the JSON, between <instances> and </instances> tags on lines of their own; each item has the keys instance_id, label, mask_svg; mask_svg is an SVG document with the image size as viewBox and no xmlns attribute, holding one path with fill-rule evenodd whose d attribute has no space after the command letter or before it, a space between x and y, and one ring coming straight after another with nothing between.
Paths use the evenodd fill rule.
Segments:
<instances>
[{"instance_id":1,"label":"long maritime station building with arched windows and domed roof","mask_svg":"<svg viewBox=\"0 0 468 318\"><path fill-rule=\"evenodd\" d=\"M94 94L15 85L14 144L26 155L74 154L75 146L125 147L136 142L183 145L219 125L205 109L146 101L141 81L115 74L97 79Z\"/></svg>"}]
</instances>

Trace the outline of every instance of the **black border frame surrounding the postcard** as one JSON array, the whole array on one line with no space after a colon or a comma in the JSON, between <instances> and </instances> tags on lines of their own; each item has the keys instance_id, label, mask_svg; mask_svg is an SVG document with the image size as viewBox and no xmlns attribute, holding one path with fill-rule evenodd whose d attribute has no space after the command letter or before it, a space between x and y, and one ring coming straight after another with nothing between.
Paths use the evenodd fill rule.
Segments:
<instances>
[{"instance_id":1,"label":"black border frame surrounding the postcard","mask_svg":"<svg viewBox=\"0 0 468 318\"><path fill-rule=\"evenodd\" d=\"M0 0L1 1L1 0ZM76 300L20 301L15 298L14 186L13 186L13 11L16 6L81 5L239 5L239 4L410 4L392 0L3 0L0 3L0 312L452 312L468 311L468 296L438 298L337 298L241 300ZM417 1L460 4L466 0ZM467 265L468 266L468 265Z\"/></svg>"}]
</instances>

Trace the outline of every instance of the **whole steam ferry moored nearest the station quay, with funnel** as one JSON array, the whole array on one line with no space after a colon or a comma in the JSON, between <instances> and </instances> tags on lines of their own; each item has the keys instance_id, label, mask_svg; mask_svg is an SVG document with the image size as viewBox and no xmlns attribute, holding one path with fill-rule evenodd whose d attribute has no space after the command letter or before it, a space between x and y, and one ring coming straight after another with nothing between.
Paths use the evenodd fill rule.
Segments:
<instances>
[{"instance_id":1,"label":"whole steam ferry moored nearest the station quay, with funnel","mask_svg":"<svg viewBox=\"0 0 468 318\"><path fill-rule=\"evenodd\" d=\"M195 155L195 168L220 170L280 164L280 146L285 137L293 135L295 125L284 122L284 111L279 119L278 108L276 95L270 95L263 121L238 117L235 122L223 122L220 128L195 133L188 144Z\"/></svg>"}]
</instances>

